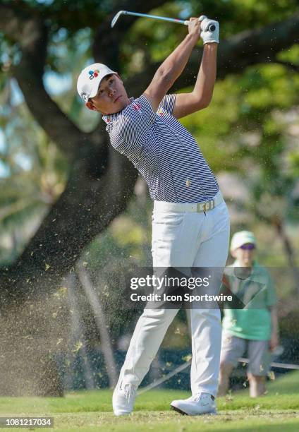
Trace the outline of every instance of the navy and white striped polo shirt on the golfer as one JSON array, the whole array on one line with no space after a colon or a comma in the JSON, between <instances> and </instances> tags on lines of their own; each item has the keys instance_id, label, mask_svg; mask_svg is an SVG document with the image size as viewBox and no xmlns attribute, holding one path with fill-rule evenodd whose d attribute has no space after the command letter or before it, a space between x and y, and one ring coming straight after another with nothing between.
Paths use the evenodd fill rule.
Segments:
<instances>
[{"instance_id":1,"label":"navy and white striped polo shirt on the golfer","mask_svg":"<svg viewBox=\"0 0 299 432\"><path fill-rule=\"evenodd\" d=\"M144 176L153 200L201 203L219 185L197 142L172 116L176 95L166 95L157 112L142 95L122 111L103 116L111 145Z\"/></svg>"}]
</instances>

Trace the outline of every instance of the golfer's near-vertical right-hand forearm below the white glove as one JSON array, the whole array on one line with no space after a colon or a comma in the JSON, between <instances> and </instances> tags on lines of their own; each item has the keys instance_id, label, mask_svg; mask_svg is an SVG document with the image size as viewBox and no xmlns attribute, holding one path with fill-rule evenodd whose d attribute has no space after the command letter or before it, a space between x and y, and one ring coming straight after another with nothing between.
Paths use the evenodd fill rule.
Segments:
<instances>
[{"instance_id":1,"label":"golfer's near-vertical right-hand forearm below the white glove","mask_svg":"<svg viewBox=\"0 0 299 432\"><path fill-rule=\"evenodd\" d=\"M216 43L204 45L200 71L193 90L198 100L205 101L207 105L212 100L216 81L217 47Z\"/></svg>"}]
</instances>

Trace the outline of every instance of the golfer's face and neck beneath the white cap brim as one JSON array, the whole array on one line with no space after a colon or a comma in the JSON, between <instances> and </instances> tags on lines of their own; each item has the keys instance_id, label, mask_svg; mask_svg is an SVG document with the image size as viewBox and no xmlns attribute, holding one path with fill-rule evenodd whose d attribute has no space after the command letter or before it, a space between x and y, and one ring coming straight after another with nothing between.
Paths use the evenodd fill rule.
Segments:
<instances>
[{"instance_id":1,"label":"golfer's face and neck beneath the white cap brim","mask_svg":"<svg viewBox=\"0 0 299 432\"><path fill-rule=\"evenodd\" d=\"M114 73L104 76L99 83L97 95L91 97L86 106L107 115L121 111L129 103L130 100L126 89L123 87L121 77Z\"/></svg>"}]
</instances>

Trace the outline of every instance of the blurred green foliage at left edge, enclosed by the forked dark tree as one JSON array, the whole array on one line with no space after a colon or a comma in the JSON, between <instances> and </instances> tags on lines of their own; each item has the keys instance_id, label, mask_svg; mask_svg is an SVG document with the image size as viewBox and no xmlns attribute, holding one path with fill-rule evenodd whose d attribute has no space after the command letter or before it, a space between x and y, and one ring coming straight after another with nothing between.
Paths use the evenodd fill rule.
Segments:
<instances>
[{"instance_id":1,"label":"blurred green foliage at left edge, enclosed by the forked dark tree","mask_svg":"<svg viewBox=\"0 0 299 432\"><path fill-rule=\"evenodd\" d=\"M1 83L4 144L0 160L8 173L0 178L0 262L4 265L16 260L63 192L68 164L25 104L13 101L10 80L2 77Z\"/></svg>"}]
</instances>

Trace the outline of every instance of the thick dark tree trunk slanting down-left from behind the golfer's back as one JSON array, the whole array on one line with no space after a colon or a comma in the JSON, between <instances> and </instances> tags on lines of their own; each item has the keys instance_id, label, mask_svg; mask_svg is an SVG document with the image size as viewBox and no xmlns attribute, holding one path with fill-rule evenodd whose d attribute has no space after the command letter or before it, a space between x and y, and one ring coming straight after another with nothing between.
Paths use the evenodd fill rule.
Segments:
<instances>
[{"instance_id":1,"label":"thick dark tree trunk slanting down-left from behind the golfer's back","mask_svg":"<svg viewBox=\"0 0 299 432\"><path fill-rule=\"evenodd\" d=\"M55 291L83 248L126 208L138 176L127 158L110 146L109 166L98 180L87 175L87 164L74 164L65 191L25 251L2 269L1 310Z\"/></svg>"}]
</instances>

